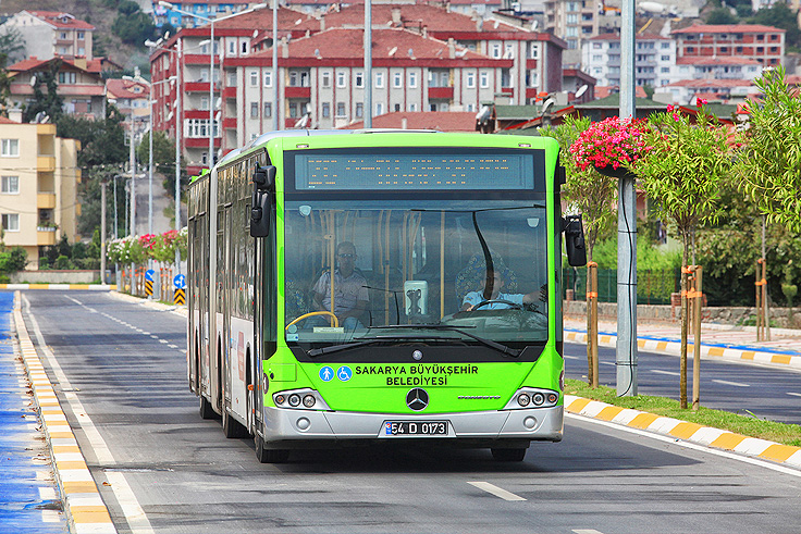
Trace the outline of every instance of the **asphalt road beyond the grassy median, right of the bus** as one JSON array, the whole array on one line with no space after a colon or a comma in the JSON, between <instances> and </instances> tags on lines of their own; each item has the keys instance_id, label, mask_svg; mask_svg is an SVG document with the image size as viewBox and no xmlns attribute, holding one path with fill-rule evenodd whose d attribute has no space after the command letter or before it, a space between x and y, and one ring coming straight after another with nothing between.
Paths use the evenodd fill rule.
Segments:
<instances>
[{"instance_id":1,"label":"asphalt road beyond the grassy median, right of the bus","mask_svg":"<svg viewBox=\"0 0 801 534\"><path fill-rule=\"evenodd\" d=\"M587 346L565 344L568 378L587 380ZM692 401L692 353L687 395ZM616 387L615 349L599 348L599 383ZM679 398L679 358L638 352L638 393ZM801 372L767 365L701 360L701 405L742 415L801 424ZM749 413L750 412L750 413Z\"/></svg>"}]
</instances>

